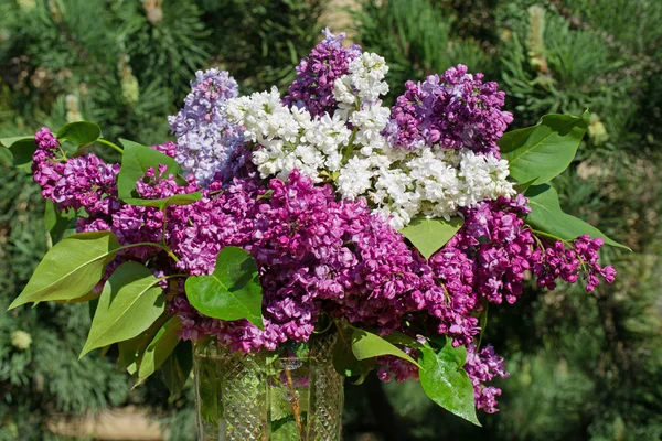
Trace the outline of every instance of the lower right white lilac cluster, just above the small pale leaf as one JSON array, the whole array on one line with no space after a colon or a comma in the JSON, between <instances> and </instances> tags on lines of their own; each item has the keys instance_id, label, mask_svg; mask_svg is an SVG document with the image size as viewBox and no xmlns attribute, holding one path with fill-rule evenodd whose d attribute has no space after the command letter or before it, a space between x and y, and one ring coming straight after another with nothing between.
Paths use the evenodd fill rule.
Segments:
<instances>
[{"instance_id":1,"label":"lower right white lilac cluster, just above the small pale leaf","mask_svg":"<svg viewBox=\"0 0 662 441\"><path fill-rule=\"evenodd\" d=\"M337 182L343 197L366 196L401 229L418 214L448 219L459 208L514 195L508 173L506 161L469 149L406 152L386 147L351 158Z\"/></svg>"}]
</instances>

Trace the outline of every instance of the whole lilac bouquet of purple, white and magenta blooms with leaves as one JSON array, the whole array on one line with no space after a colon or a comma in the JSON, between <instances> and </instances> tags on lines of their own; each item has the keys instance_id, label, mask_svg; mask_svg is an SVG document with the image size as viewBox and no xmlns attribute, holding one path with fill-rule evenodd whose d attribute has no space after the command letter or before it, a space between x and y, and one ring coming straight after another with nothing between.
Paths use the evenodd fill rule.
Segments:
<instances>
[{"instance_id":1,"label":"whole lilac bouquet of purple, white and magenta blooms with leaves","mask_svg":"<svg viewBox=\"0 0 662 441\"><path fill-rule=\"evenodd\" d=\"M388 108L384 58L324 35L285 96L239 97L226 72L199 72L169 119L177 143L120 148L84 121L0 140L31 164L55 244L11 308L93 301L81 355L118 344L140 381L190 357L189 341L279 354L337 332L340 374L418 378L478 423L508 376L481 346L490 304L514 303L531 276L613 281L598 251L622 246L549 184L588 115L505 132L504 93L462 65Z\"/></svg>"}]
</instances>

